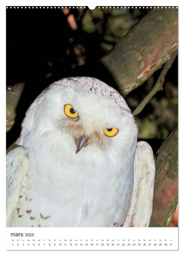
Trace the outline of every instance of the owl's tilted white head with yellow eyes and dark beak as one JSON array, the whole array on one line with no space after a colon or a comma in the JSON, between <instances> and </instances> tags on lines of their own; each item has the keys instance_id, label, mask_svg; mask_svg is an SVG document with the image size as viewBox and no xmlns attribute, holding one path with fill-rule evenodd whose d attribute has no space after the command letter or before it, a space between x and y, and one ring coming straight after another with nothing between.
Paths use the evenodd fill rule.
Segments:
<instances>
[{"instance_id":1,"label":"owl's tilted white head with yellow eyes and dark beak","mask_svg":"<svg viewBox=\"0 0 184 256\"><path fill-rule=\"evenodd\" d=\"M91 77L64 78L51 84L27 110L20 136L24 144L36 136L45 136L45 143L49 142L53 134L58 140L65 135L73 143L73 154L95 147L126 155L137 142L134 117L123 97Z\"/></svg>"}]
</instances>

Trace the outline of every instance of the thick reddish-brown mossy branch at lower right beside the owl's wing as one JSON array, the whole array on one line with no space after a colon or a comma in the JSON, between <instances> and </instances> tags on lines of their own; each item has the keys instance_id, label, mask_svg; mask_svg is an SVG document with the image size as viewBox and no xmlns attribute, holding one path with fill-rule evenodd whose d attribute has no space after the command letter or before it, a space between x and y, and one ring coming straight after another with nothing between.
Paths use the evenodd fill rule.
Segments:
<instances>
[{"instance_id":1,"label":"thick reddish-brown mossy branch at lower right beside the owl's wing","mask_svg":"<svg viewBox=\"0 0 184 256\"><path fill-rule=\"evenodd\" d=\"M156 154L153 212L150 227L168 227L178 203L178 129L173 129Z\"/></svg>"}]
</instances>

